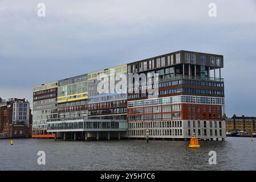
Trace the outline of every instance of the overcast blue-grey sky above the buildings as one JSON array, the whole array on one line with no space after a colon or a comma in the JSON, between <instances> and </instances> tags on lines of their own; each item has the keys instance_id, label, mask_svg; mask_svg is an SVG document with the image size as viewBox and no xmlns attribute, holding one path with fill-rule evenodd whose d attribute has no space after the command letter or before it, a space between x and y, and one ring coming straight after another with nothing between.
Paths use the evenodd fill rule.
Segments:
<instances>
[{"instance_id":1,"label":"overcast blue-grey sky above the buildings","mask_svg":"<svg viewBox=\"0 0 256 182\"><path fill-rule=\"evenodd\" d=\"M254 0L0 0L2 98L32 103L34 85L181 49L224 55L227 116L256 116Z\"/></svg>"}]
</instances>

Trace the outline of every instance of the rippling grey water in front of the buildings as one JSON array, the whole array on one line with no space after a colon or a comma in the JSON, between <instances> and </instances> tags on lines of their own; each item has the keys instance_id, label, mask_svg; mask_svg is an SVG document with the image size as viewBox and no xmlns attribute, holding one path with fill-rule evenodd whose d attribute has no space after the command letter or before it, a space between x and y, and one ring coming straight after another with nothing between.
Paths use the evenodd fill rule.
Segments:
<instances>
[{"instance_id":1,"label":"rippling grey water in front of the buildings","mask_svg":"<svg viewBox=\"0 0 256 182\"><path fill-rule=\"evenodd\" d=\"M0 140L0 170L256 170L256 139L226 138L189 142L150 140L55 141ZM216 151L217 165L210 165L209 151ZM46 152L46 165L37 163Z\"/></svg>"}]
</instances>

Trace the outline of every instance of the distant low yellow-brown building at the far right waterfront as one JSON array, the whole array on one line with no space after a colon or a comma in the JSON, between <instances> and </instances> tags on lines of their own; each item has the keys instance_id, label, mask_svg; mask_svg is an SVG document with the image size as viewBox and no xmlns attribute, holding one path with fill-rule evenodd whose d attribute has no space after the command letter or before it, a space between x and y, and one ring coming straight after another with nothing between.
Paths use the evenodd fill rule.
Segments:
<instances>
[{"instance_id":1,"label":"distant low yellow-brown building at the far right waterfront","mask_svg":"<svg viewBox=\"0 0 256 182\"><path fill-rule=\"evenodd\" d=\"M256 117L237 117L235 114L231 118L226 118L226 131L245 131L246 133L256 133Z\"/></svg>"}]
</instances>

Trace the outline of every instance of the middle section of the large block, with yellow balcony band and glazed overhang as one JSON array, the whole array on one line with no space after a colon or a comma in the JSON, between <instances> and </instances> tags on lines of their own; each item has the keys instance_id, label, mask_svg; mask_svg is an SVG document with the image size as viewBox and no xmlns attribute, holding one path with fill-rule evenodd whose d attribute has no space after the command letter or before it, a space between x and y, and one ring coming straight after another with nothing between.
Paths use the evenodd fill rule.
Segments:
<instances>
[{"instance_id":1,"label":"middle section of the large block, with yellow balcony band and glazed overhang","mask_svg":"<svg viewBox=\"0 0 256 182\"><path fill-rule=\"evenodd\" d=\"M111 93L110 89L117 82L111 77L123 73L127 65L58 81L58 117L48 119L47 132L65 140L127 138L127 90ZM101 78L108 85L103 93L97 92Z\"/></svg>"}]
</instances>

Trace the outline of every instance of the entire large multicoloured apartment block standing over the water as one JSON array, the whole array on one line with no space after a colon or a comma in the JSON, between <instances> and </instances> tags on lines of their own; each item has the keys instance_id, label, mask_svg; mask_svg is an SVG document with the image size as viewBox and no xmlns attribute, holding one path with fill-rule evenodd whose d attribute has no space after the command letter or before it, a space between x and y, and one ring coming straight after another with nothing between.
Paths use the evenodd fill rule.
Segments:
<instances>
[{"instance_id":1,"label":"entire large multicoloured apartment block standing over the water","mask_svg":"<svg viewBox=\"0 0 256 182\"><path fill-rule=\"evenodd\" d=\"M81 140L145 138L146 130L150 139L224 139L223 67L222 55L177 51L38 85L34 109L40 100L55 105L36 108L33 130Z\"/></svg>"}]
</instances>

